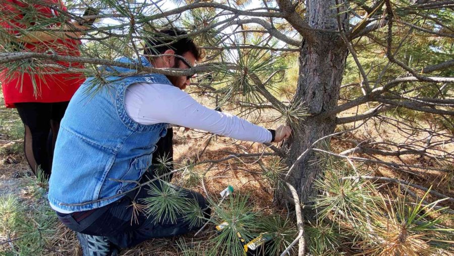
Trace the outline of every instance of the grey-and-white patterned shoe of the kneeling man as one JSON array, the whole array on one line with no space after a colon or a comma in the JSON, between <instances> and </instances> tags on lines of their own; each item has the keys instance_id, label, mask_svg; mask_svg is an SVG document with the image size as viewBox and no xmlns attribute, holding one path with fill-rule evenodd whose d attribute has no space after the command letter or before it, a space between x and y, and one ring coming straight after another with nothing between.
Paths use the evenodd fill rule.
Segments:
<instances>
[{"instance_id":1,"label":"grey-and-white patterned shoe of the kneeling man","mask_svg":"<svg viewBox=\"0 0 454 256\"><path fill-rule=\"evenodd\" d=\"M84 256L117 256L118 249L105 236L77 233Z\"/></svg>"}]
</instances>

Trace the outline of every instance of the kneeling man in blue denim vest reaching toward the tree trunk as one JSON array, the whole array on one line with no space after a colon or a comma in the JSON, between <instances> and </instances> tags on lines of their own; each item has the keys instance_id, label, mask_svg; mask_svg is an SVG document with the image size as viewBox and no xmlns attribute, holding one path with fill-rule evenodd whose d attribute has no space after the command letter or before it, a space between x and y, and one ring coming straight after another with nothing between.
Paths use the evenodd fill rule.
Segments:
<instances>
[{"instance_id":1,"label":"kneeling man in blue denim vest reaching toward the tree trunk","mask_svg":"<svg viewBox=\"0 0 454 256\"><path fill-rule=\"evenodd\" d=\"M169 38L186 33L164 30L162 34ZM187 69L200 59L199 49L187 37L178 41L150 39L144 56L118 61L131 66ZM118 247L200 228L191 225L186 216L177 215L176 220L169 221L131 207L153 196L147 193L149 186L127 191L148 181L144 173L168 124L256 142L278 142L290 136L287 126L267 130L198 104L183 91L190 83L189 76L120 77L135 70L104 69L115 74L106 78L108 86L95 92L93 84L101 86L99 80L88 78L70 101L56 141L49 181L50 206L66 226L78 232L84 255L116 255ZM163 184L155 181L150 185L159 190ZM201 194L190 190L179 194L209 215Z\"/></svg>"}]
</instances>

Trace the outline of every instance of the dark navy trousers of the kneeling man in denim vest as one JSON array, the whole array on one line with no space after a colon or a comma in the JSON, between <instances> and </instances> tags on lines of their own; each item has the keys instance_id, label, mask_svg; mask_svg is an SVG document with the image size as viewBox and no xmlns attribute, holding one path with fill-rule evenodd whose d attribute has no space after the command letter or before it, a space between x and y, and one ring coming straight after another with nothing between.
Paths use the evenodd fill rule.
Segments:
<instances>
[{"instance_id":1,"label":"dark navy trousers of the kneeling man in denim vest","mask_svg":"<svg viewBox=\"0 0 454 256\"><path fill-rule=\"evenodd\" d=\"M168 132L170 132L168 136L172 136L172 131ZM167 138L166 141L172 142L172 139L168 140ZM168 146L168 143L162 145ZM172 144L170 146L172 147ZM168 147L166 149L168 150ZM140 183L144 183L150 177L156 175L151 173L151 170L143 175ZM157 187L160 184L159 181L154 182ZM176 223L169 223L165 218L155 223L153 216L147 217L140 211L136 212L136 218L133 219L132 201L135 197L135 202L142 203L142 198L149 197L150 195L146 191L147 187L142 187L140 191L132 191L121 199L98 209L72 214L57 214L59 219L70 229L88 235L105 236L110 242L122 248L134 246L151 238L182 235L200 228L200 226L190 227L189 221L185 220L185 216L182 215L177 215ZM204 209L204 215L208 219L211 210L208 208L205 198L195 191L183 190L186 192L185 197L198 202L199 207Z\"/></svg>"}]
</instances>

